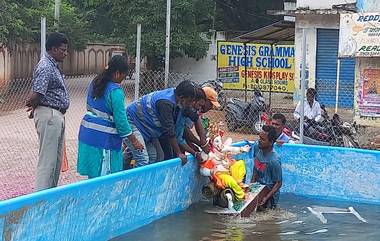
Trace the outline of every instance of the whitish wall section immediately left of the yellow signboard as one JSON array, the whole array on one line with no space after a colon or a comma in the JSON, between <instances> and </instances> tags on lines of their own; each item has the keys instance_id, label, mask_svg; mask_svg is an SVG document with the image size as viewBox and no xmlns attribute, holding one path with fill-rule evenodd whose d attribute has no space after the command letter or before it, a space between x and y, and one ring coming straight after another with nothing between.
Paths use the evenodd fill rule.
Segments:
<instances>
[{"instance_id":1,"label":"whitish wall section immediately left of the yellow signboard","mask_svg":"<svg viewBox=\"0 0 380 241\"><path fill-rule=\"evenodd\" d=\"M217 41L225 39L224 32L218 32L211 40L206 57L200 60L188 57L176 58L171 61L170 71L189 73L195 82L216 79Z\"/></svg>"}]
</instances>

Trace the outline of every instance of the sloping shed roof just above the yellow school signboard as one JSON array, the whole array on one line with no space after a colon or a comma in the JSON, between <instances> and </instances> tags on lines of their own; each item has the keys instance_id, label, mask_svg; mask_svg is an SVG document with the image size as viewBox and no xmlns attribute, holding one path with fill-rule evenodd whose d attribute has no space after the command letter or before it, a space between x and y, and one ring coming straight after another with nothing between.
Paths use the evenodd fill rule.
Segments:
<instances>
[{"instance_id":1,"label":"sloping shed roof just above the yellow school signboard","mask_svg":"<svg viewBox=\"0 0 380 241\"><path fill-rule=\"evenodd\" d=\"M240 35L232 41L273 44L294 42L294 26L294 22L282 20Z\"/></svg>"}]
</instances>

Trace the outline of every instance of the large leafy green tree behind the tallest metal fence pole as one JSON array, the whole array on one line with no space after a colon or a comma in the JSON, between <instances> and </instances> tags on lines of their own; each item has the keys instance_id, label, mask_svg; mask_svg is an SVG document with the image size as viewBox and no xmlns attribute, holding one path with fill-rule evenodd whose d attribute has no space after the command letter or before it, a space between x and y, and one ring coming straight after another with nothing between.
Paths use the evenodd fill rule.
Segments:
<instances>
[{"instance_id":1,"label":"large leafy green tree behind the tallest metal fence pole","mask_svg":"<svg viewBox=\"0 0 380 241\"><path fill-rule=\"evenodd\" d=\"M207 3L212 3L206 0ZM136 26L142 24L141 54L148 57L149 67L161 68L165 53L166 0L87 1L83 6L96 7L92 23L97 34L119 39L129 53L136 49ZM104 11L107 8L109 11ZM208 45L200 36L211 26L212 5L201 0L172 1L171 57L187 55L202 58ZM98 19L105 19L100 22Z\"/></svg>"}]
</instances>

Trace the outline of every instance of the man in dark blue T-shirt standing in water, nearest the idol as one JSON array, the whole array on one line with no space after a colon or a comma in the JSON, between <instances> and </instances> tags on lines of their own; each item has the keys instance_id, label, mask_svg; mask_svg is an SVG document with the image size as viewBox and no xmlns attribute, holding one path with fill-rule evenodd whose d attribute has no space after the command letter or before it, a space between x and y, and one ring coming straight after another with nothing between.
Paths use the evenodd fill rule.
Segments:
<instances>
[{"instance_id":1,"label":"man in dark blue T-shirt standing in water, nearest the idol","mask_svg":"<svg viewBox=\"0 0 380 241\"><path fill-rule=\"evenodd\" d=\"M259 136L258 144L253 146L252 182L259 182L270 189L270 192L262 199L260 206L274 209L277 207L282 185L281 162L273 150L277 134L273 126L263 126Z\"/></svg>"}]
</instances>

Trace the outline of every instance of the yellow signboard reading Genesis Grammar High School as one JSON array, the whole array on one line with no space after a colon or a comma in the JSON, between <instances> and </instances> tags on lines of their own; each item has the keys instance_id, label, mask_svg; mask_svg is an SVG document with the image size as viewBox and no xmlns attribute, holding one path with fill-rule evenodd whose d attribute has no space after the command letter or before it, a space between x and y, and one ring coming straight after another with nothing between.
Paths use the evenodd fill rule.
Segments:
<instances>
[{"instance_id":1,"label":"yellow signboard reading Genesis Grammar High School","mask_svg":"<svg viewBox=\"0 0 380 241\"><path fill-rule=\"evenodd\" d=\"M219 41L217 57L224 89L294 92L294 45Z\"/></svg>"}]
</instances>

